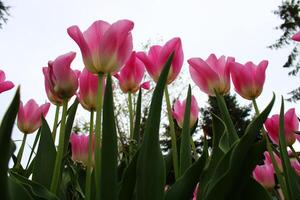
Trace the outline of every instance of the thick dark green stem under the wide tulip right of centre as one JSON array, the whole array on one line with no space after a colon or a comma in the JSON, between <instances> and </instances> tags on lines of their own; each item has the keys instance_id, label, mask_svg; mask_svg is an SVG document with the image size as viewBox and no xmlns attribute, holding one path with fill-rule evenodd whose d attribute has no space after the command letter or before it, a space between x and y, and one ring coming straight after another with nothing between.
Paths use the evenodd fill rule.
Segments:
<instances>
[{"instance_id":1,"label":"thick dark green stem under the wide tulip right of centre","mask_svg":"<svg viewBox=\"0 0 300 200\"><path fill-rule=\"evenodd\" d=\"M230 114L228 112L224 97L220 94L216 93L218 107L221 112L221 117L226 125L227 131L225 132L226 135L222 136L220 147L224 152L227 152L232 145L239 139L237 132L235 130L234 124L231 120Z\"/></svg>"}]
</instances>

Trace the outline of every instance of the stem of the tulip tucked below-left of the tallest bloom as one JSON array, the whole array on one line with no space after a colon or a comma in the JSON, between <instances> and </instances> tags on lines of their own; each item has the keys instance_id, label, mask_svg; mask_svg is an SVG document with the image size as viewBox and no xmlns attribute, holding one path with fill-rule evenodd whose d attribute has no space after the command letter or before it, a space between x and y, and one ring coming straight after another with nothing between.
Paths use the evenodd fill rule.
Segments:
<instances>
[{"instance_id":1,"label":"stem of the tulip tucked below-left of the tallest bloom","mask_svg":"<svg viewBox=\"0 0 300 200\"><path fill-rule=\"evenodd\" d=\"M92 155L93 155L93 131L94 131L94 111L90 113L90 132L89 132L89 157L86 169L86 182L85 182L85 199L91 199L91 177L92 177Z\"/></svg>"}]
</instances>

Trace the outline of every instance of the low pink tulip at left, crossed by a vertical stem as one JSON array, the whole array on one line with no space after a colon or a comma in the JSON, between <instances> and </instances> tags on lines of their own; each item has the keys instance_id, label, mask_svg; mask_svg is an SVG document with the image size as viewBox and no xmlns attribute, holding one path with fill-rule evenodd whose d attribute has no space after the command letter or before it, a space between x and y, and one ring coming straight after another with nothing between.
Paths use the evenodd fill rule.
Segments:
<instances>
[{"instance_id":1,"label":"low pink tulip at left, crossed by a vertical stem","mask_svg":"<svg viewBox=\"0 0 300 200\"><path fill-rule=\"evenodd\" d=\"M75 162L88 165L89 158L89 135L78 135L72 133L70 136L71 148L72 148L72 160ZM94 154L94 135L93 135L93 154ZM92 155L92 166L94 165L94 155Z\"/></svg>"}]
</instances>

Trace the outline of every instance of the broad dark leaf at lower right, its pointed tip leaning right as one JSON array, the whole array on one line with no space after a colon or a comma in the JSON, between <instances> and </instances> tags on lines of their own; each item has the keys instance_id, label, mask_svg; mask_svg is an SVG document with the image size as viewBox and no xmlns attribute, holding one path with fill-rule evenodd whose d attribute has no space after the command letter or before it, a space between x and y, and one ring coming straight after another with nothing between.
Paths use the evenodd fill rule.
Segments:
<instances>
[{"instance_id":1,"label":"broad dark leaf at lower right, its pointed tip leaning right","mask_svg":"<svg viewBox=\"0 0 300 200\"><path fill-rule=\"evenodd\" d=\"M250 177L264 151L264 143L253 145L253 142L268 117L274 101L275 96L265 110L248 125L244 136L221 158L211 177L212 181L204 199L232 199L233 194L240 192L237 191L237 183L241 188L244 186L245 178ZM260 145L260 148L257 145Z\"/></svg>"}]
</instances>

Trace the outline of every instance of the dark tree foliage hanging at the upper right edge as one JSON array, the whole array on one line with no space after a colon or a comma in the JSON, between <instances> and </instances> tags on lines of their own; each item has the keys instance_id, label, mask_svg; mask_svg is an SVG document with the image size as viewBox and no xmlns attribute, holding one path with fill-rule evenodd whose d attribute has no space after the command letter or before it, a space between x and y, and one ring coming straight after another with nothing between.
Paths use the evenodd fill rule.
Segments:
<instances>
[{"instance_id":1,"label":"dark tree foliage hanging at the upper right edge","mask_svg":"<svg viewBox=\"0 0 300 200\"><path fill-rule=\"evenodd\" d=\"M291 40L291 37L300 30L300 0L286 0L278 7L274 14L277 15L282 23L276 27L283 34L276 42L269 46L271 49L281 49L291 47L292 51L283 65L284 68L290 68L288 75L296 76L300 70L299 45ZM287 100L296 102L300 100L300 87L289 92L291 95Z\"/></svg>"}]
</instances>

